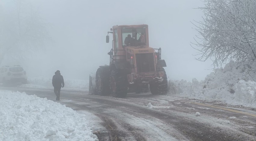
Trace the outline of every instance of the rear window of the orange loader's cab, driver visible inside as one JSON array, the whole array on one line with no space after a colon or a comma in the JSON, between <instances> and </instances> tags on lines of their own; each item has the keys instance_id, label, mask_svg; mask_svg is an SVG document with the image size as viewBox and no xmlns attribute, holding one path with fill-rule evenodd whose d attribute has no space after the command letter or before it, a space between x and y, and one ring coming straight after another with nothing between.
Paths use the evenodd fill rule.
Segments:
<instances>
[{"instance_id":1,"label":"rear window of the orange loader's cab, driver visible inside","mask_svg":"<svg viewBox=\"0 0 256 141\"><path fill-rule=\"evenodd\" d=\"M123 46L145 45L145 28L122 29Z\"/></svg>"}]
</instances>

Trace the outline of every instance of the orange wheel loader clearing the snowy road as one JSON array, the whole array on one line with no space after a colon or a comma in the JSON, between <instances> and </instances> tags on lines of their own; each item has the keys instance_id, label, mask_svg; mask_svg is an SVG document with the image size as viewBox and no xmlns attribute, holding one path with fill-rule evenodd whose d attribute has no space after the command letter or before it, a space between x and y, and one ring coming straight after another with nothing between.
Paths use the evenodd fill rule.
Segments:
<instances>
[{"instance_id":1,"label":"orange wheel loader clearing the snowy road","mask_svg":"<svg viewBox=\"0 0 256 141\"><path fill-rule=\"evenodd\" d=\"M89 76L89 93L117 98L130 92L167 93L167 75L161 59L161 48L149 46L148 25L113 26L106 36L113 35L109 65L102 65L95 76Z\"/></svg>"}]
</instances>

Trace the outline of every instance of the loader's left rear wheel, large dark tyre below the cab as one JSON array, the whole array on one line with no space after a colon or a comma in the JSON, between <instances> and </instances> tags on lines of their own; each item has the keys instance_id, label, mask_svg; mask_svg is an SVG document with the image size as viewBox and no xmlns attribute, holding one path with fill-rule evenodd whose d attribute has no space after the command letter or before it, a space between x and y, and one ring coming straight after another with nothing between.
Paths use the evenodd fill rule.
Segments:
<instances>
[{"instance_id":1,"label":"loader's left rear wheel, large dark tyre below the cab","mask_svg":"<svg viewBox=\"0 0 256 141\"><path fill-rule=\"evenodd\" d=\"M128 80L126 73L121 69L111 71L110 75L111 95L117 98L124 98L128 91Z\"/></svg>"}]
</instances>

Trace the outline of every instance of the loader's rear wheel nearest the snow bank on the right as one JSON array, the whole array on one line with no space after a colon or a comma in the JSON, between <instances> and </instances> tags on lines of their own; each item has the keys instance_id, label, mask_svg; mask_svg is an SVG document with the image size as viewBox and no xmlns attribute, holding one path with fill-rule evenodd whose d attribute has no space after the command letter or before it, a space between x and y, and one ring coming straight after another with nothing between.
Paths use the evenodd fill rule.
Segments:
<instances>
[{"instance_id":1,"label":"loader's rear wheel nearest the snow bank on the right","mask_svg":"<svg viewBox=\"0 0 256 141\"><path fill-rule=\"evenodd\" d=\"M159 83L157 82L149 83L150 92L153 95L166 95L168 92L167 75L165 73L164 68L161 68L160 71L164 71L164 80Z\"/></svg>"}]
</instances>

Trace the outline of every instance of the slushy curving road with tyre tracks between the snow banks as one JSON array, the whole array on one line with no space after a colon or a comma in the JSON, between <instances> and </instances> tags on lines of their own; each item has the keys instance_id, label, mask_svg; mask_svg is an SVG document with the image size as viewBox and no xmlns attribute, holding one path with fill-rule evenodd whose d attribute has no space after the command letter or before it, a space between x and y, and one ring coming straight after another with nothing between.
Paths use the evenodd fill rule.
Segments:
<instances>
[{"instance_id":1,"label":"slushy curving road with tyre tracks between the snow banks","mask_svg":"<svg viewBox=\"0 0 256 141\"><path fill-rule=\"evenodd\" d=\"M56 98L52 89L0 89ZM101 131L100 141L256 140L255 109L149 93L112 98L65 89L59 103L88 115L94 130Z\"/></svg>"}]
</instances>

